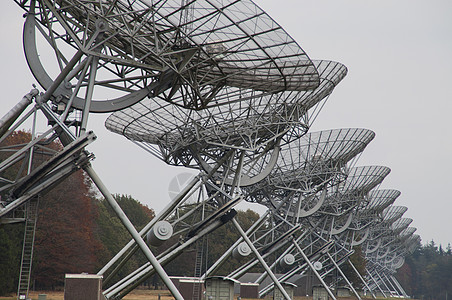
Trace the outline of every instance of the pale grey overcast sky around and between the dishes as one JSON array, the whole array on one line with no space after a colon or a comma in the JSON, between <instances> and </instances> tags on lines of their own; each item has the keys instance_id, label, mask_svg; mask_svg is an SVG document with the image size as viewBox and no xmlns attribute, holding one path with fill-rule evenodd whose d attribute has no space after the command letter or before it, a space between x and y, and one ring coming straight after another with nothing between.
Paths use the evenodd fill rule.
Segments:
<instances>
[{"instance_id":1,"label":"pale grey overcast sky around and between the dishes","mask_svg":"<svg viewBox=\"0 0 452 300\"><path fill-rule=\"evenodd\" d=\"M376 133L359 165L391 173L381 188L397 189L396 205L423 243L452 243L452 1L256 0L312 59L339 61L347 77L312 131L362 127ZM11 0L0 10L0 115L36 81L22 51L23 11ZM156 211L169 201L170 167L108 132L107 115L90 119L98 139L94 168L112 193L130 194ZM189 172L190 171L188 170Z\"/></svg>"}]
</instances>

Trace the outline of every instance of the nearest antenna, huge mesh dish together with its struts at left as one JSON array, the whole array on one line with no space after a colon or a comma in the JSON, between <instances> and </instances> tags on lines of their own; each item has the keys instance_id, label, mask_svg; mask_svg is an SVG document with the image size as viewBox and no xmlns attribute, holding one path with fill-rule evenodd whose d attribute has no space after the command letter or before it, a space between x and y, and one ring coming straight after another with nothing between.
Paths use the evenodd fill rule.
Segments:
<instances>
[{"instance_id":1,"label":"nearest antenna, huge mesh dish together with its struts at left","mask_svg":"<svg viewBox=\"0 0 452 300\"><path fill-rule=\"evenodd\" d=\"M121 110L146 96L159 97L173 106L199 110L210 104L217 106L218 100L223 101L222 105L236 101L224 97L229 93L226 90L241 90L244 86L253 89L250 93L301 93L319 86L317 67L298 44L251 1L16 2L27 12L26 59L45 93L38 95L33 91L20 107L2 118L2 135L17 128L18 125L11 127L12 123L36 98L35 112L42 111L49 123L55 124L40 139L55 133L64 149L42 167L31 173L29 170L16 182L7 182L6 188L13 192L8 201L2 203L1 216L74 170L84 168L154 270L175 297L181 299L158 260L89 164L92 156L84 147L95 139L92 133L86 134L90 112ZM81 113L73 114L73 108ZM19 123L30 115L28 113ZM74 130L69 126L74 126ZM32 153L40 139L17 151L9 162L26 151ZM31 160L32 155L29 157ZM11 164L7 160L0 171ZM65 164L66 169L61 164ZM39 181L42 178L45 180ZM218 203L227 196L218 195L221 192L209 190L207 197ZM231 212L238 199L226 198L228 200L220 201L222 204L207 219L191 228L189 237L213 230L227 219L225 214ZM220 217L223 217L222 222L218 220Z\"/></svg>"}]
</instances>

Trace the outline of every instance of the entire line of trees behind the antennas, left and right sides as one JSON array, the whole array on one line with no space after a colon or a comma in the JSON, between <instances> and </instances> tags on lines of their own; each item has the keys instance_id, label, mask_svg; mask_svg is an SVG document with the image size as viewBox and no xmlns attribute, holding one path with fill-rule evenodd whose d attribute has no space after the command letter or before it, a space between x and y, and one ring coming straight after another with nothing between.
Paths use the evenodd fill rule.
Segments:
<instances>
[{"instance_id":1,"label":"entire line of trees behind the antennas, left and right sides","mask_svg":"<svg viewBox=\"0 0 452 300\"><path fill-rule=\"evenodd\" d=\"M26 143L30 133L19 131L3 142L1 146ZM48 146L57 150L57 143ZM39 162L39 152L35 153ZM44 154L42 154L44 156ZM0 162L7 153L0 151ZM17 163L19 169L20 162ZM11 174L9 174L10 172ZM17 172L2 174L8 178L17 176ZM0 197L6 199L5 192ZM154 210L141 204L130 195L114 195L131 222L140 230L154 216ZM238 211L236 219L244 230L253 224L259 215L252 211ZM0 295L17 290L24 224L0 225ZM205 265L213 263L239 237L231 224L226 224L215 234L201 239ZM177 238L177 237L174 237ZM32 268L32 288L37 290L59 289L64 286L66 273L96 273L129 240L130 235L115 216L107 201L94 192L90 180L83 171L68 177L58 186L39 199L38 223L35 237L35 249ZM165 245L155 248L159 253ZM352 260L360 271L365 268L360 249L355 249ZM165 266L169 275L193 276L196 247L178 256ZM119 272L123 276L146 262L144 255L137 253ZM219 272L226 275L241 262L235 258L228 260ZM254 269L260 272L262 270ZM359 285L354 272L345 267L350 280ZM362 273L362 272L360 272ZM445 299L452 297L452 248L444 249L434 241L426 245L419 244L416 250L406 257L405 264L398 270L396 277L409 295L416 299ZM157 276L150 278L149 285L161 285Z\"/></svg>"}]
</instances>

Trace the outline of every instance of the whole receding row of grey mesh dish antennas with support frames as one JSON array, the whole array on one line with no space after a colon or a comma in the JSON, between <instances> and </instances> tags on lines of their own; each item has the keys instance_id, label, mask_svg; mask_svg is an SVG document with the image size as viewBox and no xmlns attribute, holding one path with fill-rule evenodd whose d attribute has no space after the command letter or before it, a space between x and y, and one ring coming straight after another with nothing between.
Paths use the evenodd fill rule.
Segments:
<instances>
[{"instance_id":1,"label":"whole receding row of grey mesh dish antennas with support frames","mask_svg":"<svg viewBox=\"0 0 452 300\"><path fill-rule=\"evenodd\" d=\"M32 140L0 161L0 222L26 224L18 299L28 297L39 199L80 169L131 235L98 272L106 299L153 274L183 299L165 265L188 249L202 255L203 239L226 223L240 239L211 265L194 262L192 299L232 255L243 264L227 278L263 270L253 280L259 296L291 299L284 284L312 272L331 298L345 284L360 299L341 270L349 264L365 292L408 297L393 275L420 237L403 218L407 209L393 205L400 192L378 189L389 168L356 166L375 134L308 132L346 76L344 65L311 60L250 0L15 2L25 11L25 57L43 92L32 89L0 119L0 145L29 119L46 124L38 135L32 123ZM92 113L111 113L107 129L167 164L199 171L140 232L90 164ZM62 148L46 146L53 140ZM38 150L48 156L38 159ZM241 201L267 209L246 232L235 218ZM366 274L350 261L358 249ZM137 250L147 263L113 280Z\"/></svg>"}]
</instances>

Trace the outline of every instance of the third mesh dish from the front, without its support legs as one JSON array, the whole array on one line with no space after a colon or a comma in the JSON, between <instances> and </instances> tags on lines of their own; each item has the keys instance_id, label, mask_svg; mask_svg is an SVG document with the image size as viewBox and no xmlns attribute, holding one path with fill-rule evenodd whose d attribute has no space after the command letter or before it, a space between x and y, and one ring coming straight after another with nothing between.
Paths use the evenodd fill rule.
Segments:
<instances>
[{"instance_id":1,"label":"third mesh dish from the front, without its support legs","mask_svg":"<svg viewBox=\"0 0 452 300\"><path fill-rule=\"evenodd\" d=\"M344 180L347 162L362 152L374 136L372 131L361 128L308 133L284 145L270 175L244 191L249 201L270 201L290 216L295 211L300 217L310 215L326 197L323 190L327 185Z\"/></svg>"}]
</instances>

